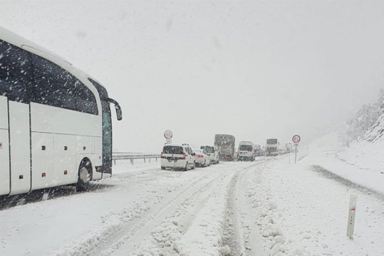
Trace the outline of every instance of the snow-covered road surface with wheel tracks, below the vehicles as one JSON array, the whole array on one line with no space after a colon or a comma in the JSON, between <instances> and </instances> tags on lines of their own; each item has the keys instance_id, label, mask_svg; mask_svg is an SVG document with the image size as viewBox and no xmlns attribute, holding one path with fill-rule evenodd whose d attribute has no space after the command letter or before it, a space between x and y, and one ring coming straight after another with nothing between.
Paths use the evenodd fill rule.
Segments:
<instances>
[{"instance_id":1,"label":"snow-covered road surface with wheel tracks, below the vehicles","mask_svg":"<svg viewBox=\"0 0 384 256\"><path fill-rule=\"evenodd\" d=\"M188 172L120 161L91 191L0 210L0 255L384 255L382 220L380 194L285 156Z\"/></svg>"}]
</instances>

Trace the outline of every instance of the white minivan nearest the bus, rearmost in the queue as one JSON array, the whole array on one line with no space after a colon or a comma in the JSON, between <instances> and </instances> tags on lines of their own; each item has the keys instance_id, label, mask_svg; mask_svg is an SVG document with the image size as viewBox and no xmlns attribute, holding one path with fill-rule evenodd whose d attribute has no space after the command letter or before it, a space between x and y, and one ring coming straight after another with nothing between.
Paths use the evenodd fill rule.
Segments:
<instances>
[{"instance_id":1,"label":"white minivan nearest the bus, rearmost in the queue","mask_svg":"<svg viewBox=\"0 0 384 256\"><path fill-rule=\"evenodd\" d=\"M170 167L174 169L188 170L195 169L196 160L195 153L188 144L166 144L160 155L161 169Z\"/></svg>"}]
</instances>

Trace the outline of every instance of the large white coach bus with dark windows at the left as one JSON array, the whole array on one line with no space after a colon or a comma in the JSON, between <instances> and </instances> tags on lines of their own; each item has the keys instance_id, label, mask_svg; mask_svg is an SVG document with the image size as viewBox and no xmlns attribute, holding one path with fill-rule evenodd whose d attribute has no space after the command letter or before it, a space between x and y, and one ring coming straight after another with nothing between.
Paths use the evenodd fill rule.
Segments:
<instances>
[{"instance_id":1,"label":"large white coach bus with dark windows at the left","mask_svg":"<svg viewBox=\"0 0 384 256\"><path fill-rule=\"evenodd\" d=\"M105 88L71 63L0 27L0 195L112 175Z\"/></svg>"}]
</instances>

